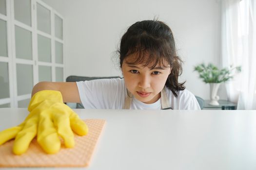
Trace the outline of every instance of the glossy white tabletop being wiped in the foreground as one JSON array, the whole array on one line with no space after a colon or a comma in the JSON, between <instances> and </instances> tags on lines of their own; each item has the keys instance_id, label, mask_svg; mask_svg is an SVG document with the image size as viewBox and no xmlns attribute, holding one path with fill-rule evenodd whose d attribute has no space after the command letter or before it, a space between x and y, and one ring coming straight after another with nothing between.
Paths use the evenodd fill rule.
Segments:
<instances>
[{"instance_id":1,"label":"glossy white tabletop being wiped in the foreground","mask_svg":"<svg viewBox=\"0 0 256 170\"><path fill-rule=\"evenodd\" d=\"M75 111L82 119L106 120L87 170L256 170L253 110ZM27 114L0 109L0 130Z\"/></svg>"}]
</instances>

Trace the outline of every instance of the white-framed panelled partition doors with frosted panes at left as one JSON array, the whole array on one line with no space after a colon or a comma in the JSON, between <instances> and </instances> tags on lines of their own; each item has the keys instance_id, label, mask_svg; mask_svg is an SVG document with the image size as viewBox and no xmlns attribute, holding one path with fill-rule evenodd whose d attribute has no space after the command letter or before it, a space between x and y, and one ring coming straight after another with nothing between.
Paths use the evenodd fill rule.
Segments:
<instances>
[{"instance_id":1,"label":"white-framed panelled partition doors with frosted panes at left","mask_svg":"<svg viewBox=\"0 0 256 170\"><path fill-rule=\"evenodd\" d=\"M64 81L63 18L41 0L0 6L0 107L27 107L35 84Z\"/></svg>"}]
</instances>

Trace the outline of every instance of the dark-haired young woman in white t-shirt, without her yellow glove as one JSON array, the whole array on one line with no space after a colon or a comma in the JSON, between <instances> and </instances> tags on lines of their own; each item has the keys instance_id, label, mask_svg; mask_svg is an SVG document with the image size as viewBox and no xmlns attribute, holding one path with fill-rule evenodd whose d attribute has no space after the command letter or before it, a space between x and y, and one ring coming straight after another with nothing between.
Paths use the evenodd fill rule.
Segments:
<instances>
[{"instance_id":1,"label":"dark-haired young woman in white t-shirt, without her yellow glove","mask_svg":"<svg viewBox=\"0 0 256 170\"><path fill-rule=\"evenodd\" d=\"M136 22L122 36L118 53L123 79L41 82L32 95L58 90L64 102L81 102L84 108L95 109L200 109L195 96L178 82L182 62L165 23Z\"/></svg>"}]
</instances>

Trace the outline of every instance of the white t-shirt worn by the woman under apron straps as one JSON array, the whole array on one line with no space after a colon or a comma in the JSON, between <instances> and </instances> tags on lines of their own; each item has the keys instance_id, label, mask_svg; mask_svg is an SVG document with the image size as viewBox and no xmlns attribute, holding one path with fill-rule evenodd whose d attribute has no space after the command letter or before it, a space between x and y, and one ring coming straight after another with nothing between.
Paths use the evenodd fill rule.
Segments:
<instances>
[{"instance_id":1,"label":"white t-shirt worn by the woman under apron straps","mask_svg":"<svg viewBox=\"0 0 256 170\"><path fill-rule=\"evenodd\" d=\"M97 79L77 82L80 100L87 109L122 109L127 96L124 79ZM177 92L177 97L165 86L172 109L200 110L194 94L188 90ZM161 109L161 100L152 104L132 99L131 109Z\"/></svg>"}]
</instances>

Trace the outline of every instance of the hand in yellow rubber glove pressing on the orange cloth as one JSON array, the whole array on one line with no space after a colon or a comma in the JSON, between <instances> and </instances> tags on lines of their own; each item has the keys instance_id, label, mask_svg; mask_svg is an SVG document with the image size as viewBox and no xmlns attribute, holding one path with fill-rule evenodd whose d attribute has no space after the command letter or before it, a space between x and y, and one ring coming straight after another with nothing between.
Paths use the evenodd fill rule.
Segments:
<instances>
[{"instance_id":1,"label":"hand in yellow rubber glove pressing on the orange cloth","mask_svg":"<svg viewBox=\"0 0 256 170\"><path fill-rule=\"evenodd\" d=\"M57 153L60 149L59 136L68 148L75 145L74 133L88 133L88 127L79 116L63 103L59 91L42 90L32 97L28 111L30 114L18 126L0 132L0 145L15 138L13 153L25 153L31 140L37 141L46 153Z\"/></svg>"}]
</instances>

